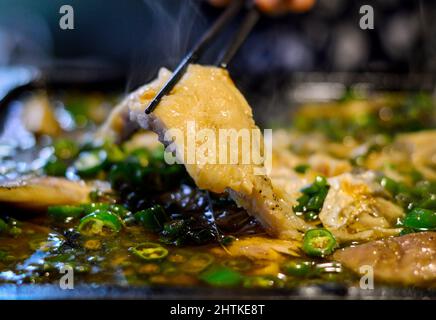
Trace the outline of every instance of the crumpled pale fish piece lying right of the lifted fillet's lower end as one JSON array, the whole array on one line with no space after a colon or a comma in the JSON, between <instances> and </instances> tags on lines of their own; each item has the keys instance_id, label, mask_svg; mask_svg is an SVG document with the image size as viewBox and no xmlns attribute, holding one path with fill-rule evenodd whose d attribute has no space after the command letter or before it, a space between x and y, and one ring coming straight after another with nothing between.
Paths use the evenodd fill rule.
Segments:
<instances>
[{"instance_id":1,"label":"crumpled pale fish piece lying right of the lifted fillet's lower end","mask_svg":"<svg viewBox=\"0 0 436 320\"><path fill-rule=\"evenodd\" d=\"M323 226L340 242L368 241L397 235L403 210L384 198L374 173L345 173L329 178L329 192L319 214Z\"/></svg>"}]
</instances>

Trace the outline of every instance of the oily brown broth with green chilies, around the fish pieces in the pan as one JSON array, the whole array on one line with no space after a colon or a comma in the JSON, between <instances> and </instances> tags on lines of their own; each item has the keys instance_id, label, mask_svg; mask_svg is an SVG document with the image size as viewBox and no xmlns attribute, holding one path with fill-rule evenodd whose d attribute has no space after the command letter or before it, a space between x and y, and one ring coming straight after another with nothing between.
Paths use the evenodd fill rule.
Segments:
<instances>
[{"instance_id":1,"label":"oily brown broth with green chilies, around the fish pieces in the pan","mask_svg":"<svg viewBox=\"0 0 436 320\"><path fill-rule=\"evenodd\" d=\"M263 228L228 195L200 190L182 165L167 165L159 145L135 145L135 138L122 145L86 142L111 100L79 93L50 96L50 104L62 102L53 117L67 118L69 126L57 133L34 129L36 144L26 150L2 145L8 150L0 164L3 180L36 174L92 181L92 187L90 201L83 203L48 209L2 205L0 282L57 283L59 270L68 266L76 283L245 288L359 283L360 276L335 261L330 251L317 256L300 244L290 254L268 249L265 259L240 254L234 249L240 239L269 239ZM359 113L342 112L355 104L360 104ZM311 156L322 153L350 171L379 172L377 181L386 198L407 212L395 223L401 234L434 230L435 167L398 158L388 161L385 153L406 148L406 143L396 142L400 133L432 129L434 118L433 102L425 94L348 95L343 101L300 108L292 125L278 136L288 140L283 148L299 158L292 169L308 181L295 199L296 214L322 227L319 215L331 188L325 179L335 175L330 167L310 162ZM136 139L144 138L138 134ZM32 158L35 154L40 158ZM18 159L41 164L23 169ZM422 212L429 219L427 226L414 220ZM331 250L363 242L342 241Z\"/></svg>"}]
</instances>

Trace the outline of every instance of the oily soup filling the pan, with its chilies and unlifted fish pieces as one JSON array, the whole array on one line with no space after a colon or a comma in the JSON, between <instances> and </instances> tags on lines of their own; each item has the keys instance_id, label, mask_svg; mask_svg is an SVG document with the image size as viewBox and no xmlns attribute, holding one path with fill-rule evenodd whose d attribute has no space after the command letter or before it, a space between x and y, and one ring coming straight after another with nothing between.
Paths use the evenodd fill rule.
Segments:
<instances>
[{"instance_id":1,"label":"oily soup filling the pan, with its chilies and unlifted fish pieces","mask_svg":"<svg viewBox=\"0 0 436 320\"><path fill-rule=\"evenodd\" d=\"M224 77L217 90L245 106L241 119L246 113L251 119L231 80L215 76ZM177 94L168 99L181 112L186 101ZM86 134L107 117L112 97L38 93L32 103L26 99L18 100L21 112L46 103L46 119L54 122L23 125L35 137L33 146L0 140L0 283L57 283L59 270L69 266L77 283L353 285L360 264L369 264L383 284L435 285L435 108L425 94L348 95L306 105L288 127L274 130L271 192L305 226L296 228L301 238L281 239L267 235L267 215L253 217L227 193L211 192L226 185L209 188L207 172L201 180L209 192L183 165L167 165L150 132L121 144L86 143ZM59 110L50 116L53 101L63 102L68 130L56 118ZM255 126L247 121L238 124ZM402 254L413 259L392 258ZM381 257L392 259L381 263Z\"/></svg>"}]
</instances>

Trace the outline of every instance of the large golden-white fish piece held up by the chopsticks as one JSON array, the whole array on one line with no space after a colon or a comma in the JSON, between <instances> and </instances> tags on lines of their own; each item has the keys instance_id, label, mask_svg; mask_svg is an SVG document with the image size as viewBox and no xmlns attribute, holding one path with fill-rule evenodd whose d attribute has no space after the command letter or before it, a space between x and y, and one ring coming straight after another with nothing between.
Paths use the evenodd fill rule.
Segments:
<instances>
[{"instance_id":1,"label":"large golden-white fish piece held up by the chopsticks","mask_svg":"<svg viewBox=\"0 0 436 320\"><path fill-rule=\"evenodd\" d=\"M167 70L161 70L156 80L132 93L123 105L129 106L131 119L139 122L143 128L156 132L161 142L174 148L171 151L176 151L179 159L189 160L190 154L184 141L188 139L190 121L195 121L197 132L208 129L217 137L220 129L248 129L260 134L250 106L235 87L228 72L216 67L190 65L171 93L163 97L156 110L145 115L146 106L169 76ZM165 139L168 138L165 134L170 129L180 130L183 139ZM253 151L253 148L263 150L260 141L252 139L251 142L251 150L248 152ZM199 147L204 140L195 143ZM229 153L234 152L230 148L228 150ZM217 158L216 164L204 163L201 157L195 158L193 162L184 161L184 164L198 187L216 193L228 191L236 203L255 216L270 235L282 239L300 239L302 232L310 228L310 225L294 214L292 205L274 190L268 176L255 174L257 169L263 168L263 163L246 164L242 161L243 154L238 150L233 164L222 164Z\"/></svg>"}]
</instances>

